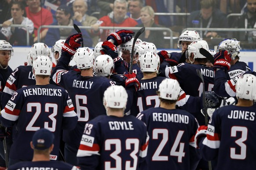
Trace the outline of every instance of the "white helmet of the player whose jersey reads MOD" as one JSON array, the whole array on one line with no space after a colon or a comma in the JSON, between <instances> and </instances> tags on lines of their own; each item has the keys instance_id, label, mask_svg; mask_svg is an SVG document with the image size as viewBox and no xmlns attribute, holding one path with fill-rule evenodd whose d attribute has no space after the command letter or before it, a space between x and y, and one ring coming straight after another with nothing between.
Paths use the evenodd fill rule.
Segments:
<instances>
[{"instance_id":1,"label":"white helmet of the player whose jersey reads MOD","mask_svg":"<svg viewBox=\"0 0 256 170\"><path fill-rule=\"evenodd\" d=\"M192 42L187 47L186 57L189 57L191 55L191 53L193 53L194 54L194 59L196 59L196 58L206 58L205 56L203 56L203 54L200 53L201 48L209 51L208 43L205 40L198 40L198 41Z\"/></svg>"}]
</instances>

